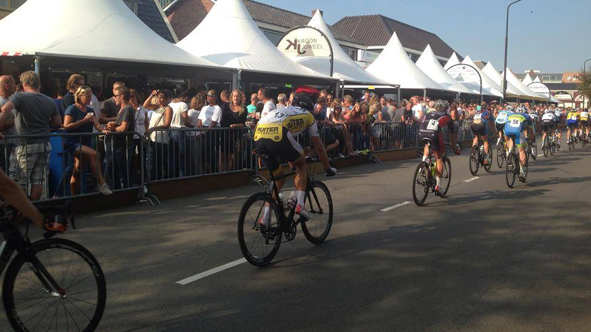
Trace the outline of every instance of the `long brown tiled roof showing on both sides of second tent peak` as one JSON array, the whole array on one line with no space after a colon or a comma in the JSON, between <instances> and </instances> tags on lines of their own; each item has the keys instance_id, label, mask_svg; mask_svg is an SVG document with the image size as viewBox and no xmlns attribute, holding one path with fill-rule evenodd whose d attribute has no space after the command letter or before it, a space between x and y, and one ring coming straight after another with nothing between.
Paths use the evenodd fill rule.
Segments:
<instances>
[{"instance_id":1,"label":"long brown tiled roof showing on both sides of second tent peak","mask_svg":"<svg viewBox=\"0 0 591 332\"><path fill-rule=\"evenodd\" d=\"M168 18L170 19L171 24L173 24L173 28L180 39L186 37L189 32L193 31L193 29L199 25L199 23L205 17L205 13L202 9L207 9L207 7L210 8L211 5L202 3L197 4L194 2L193 5L197 6L196 10L182 13L182 19L174 19L174 16L177 16L177 14L174 14L173 17L170 15L173 14L174 9L178 8L177 5L180 4L181 1L183 0L174 2L174 4L166 11ZM210 2L210 0L202 0L201 2ZM252 19L267 24L277 25L279 27L293 28L297 27L298 25L306 25L311 19L310 16L297 14L296 12L290 12L285 9L263 4L262 2L252 0L242 0L242 2L244 3L244 6L248 10L249 14L251 14ZM355 38L347 37L333 27L329 26L329 28L337 40L348 41L349 43L353 44L360 44L355 40Z\"/></svg>"}]
</instances>

